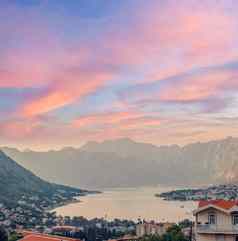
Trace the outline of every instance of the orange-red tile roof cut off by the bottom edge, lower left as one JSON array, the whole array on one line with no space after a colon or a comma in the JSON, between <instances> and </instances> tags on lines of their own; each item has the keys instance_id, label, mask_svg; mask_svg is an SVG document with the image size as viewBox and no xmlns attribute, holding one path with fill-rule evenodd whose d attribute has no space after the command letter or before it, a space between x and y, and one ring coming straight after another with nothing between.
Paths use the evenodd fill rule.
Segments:
<instances>
[{"instance_id":1,"label":"orange-red tile roof cut off by the bottom edge, lower left","mask_svg":"<svg viewBox=\"0 0 238 241\"><path fill-rule=\"evenodd\" d=\"M24 235L25 234L25 235ZM46 235L40 233L24 233L24 238L21 241L80 241L79 239L72 239L61 236Z\"/></svg>"}]
</instances>

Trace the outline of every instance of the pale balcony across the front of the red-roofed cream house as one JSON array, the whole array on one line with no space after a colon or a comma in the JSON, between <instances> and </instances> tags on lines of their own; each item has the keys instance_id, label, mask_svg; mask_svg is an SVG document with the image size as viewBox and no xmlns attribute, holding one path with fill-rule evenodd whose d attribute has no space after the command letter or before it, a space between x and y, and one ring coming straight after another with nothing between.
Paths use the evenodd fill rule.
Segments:
<instances>
[{"instance_id":1,"label":"pale balcony across the front of the red-roofed cream house","mask_svg":"<svg viewBox=\"0 0 238 241\"><path fill-rule=\"evenodd\" d=\"M196 232L198 234L238 234L238 225L198 224Z\"/></svg>"}]
</instances>

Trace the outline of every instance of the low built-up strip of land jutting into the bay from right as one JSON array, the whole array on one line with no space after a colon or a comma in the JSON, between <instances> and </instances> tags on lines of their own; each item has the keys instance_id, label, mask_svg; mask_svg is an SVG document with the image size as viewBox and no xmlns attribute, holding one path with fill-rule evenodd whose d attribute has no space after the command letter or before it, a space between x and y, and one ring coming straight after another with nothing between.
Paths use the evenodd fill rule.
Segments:
<instances>
[{"instance_id":1,"label":"low built-up strip of land jutting into the bay from right","mask_svg":"<svg viewBox=\"0 0 238 241\"><path fill-rule=\"evenodd\" d=\"M236 200L238 199L238 185L226 184L207 188L180 189L155 194L155 196L167 201Z\"/></svg>"}]
</instances>

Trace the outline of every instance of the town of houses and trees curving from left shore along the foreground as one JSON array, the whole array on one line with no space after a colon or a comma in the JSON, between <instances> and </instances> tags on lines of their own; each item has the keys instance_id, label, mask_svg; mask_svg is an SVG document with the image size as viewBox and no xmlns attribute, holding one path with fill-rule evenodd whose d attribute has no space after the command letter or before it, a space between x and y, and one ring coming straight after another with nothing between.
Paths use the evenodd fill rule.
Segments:
<instances>
[{"instance_id":1,"label":"town of houses and trees curving from left shore along the foreground","mask_svg":"<svg viewBox=\"0 0 238 241\"><path fill-rule=\"evenodd\" d=\"M125 237L144 237L151 234L163 235L175 223L155 222L153 220L107 220L106 218L87 219L82 216L57 215L54 208L69 203L80 202L80 196L99 192L82 191L80 193L62 192L48 198L40 196L22 196L17 203L0 204L0 227L8 234L11 241L25 240L29 235L40 237L63 237L103 241L117 240ZM189 235L191 221L178 224L184 235ZM189 230L188 230L189 229ZM180 229L179 229L180 230ZM34 240L34 239L33 239ZM2 240L1 240L2 241Z\"/></svg>"}]
</instances>

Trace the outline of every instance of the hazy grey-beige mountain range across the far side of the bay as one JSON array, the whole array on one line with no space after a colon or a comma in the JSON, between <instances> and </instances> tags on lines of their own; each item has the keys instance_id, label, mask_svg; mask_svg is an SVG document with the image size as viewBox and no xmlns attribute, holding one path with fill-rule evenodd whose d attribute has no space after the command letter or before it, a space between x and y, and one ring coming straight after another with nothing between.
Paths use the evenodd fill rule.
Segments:
<instances>
[{"instance_id":1,"label":"hazy grey-beige mountain range across the far side of the bay","mask_svg":"<svg viewBox=\"0 0 238 241\"><path fill-rule=\"evenodd\" d=\"M238 180L238 138L233 137L183 147L124 138L58 151L2 150L42 178L76 187L207 185Z\"/></svg>"}]
</instances>

